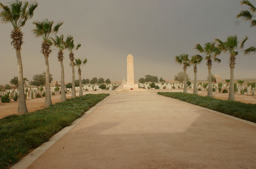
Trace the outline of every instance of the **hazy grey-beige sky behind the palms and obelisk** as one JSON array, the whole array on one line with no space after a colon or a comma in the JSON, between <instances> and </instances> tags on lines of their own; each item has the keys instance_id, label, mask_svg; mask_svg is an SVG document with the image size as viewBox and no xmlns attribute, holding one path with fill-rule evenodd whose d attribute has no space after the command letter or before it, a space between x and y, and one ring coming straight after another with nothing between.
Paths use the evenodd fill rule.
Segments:
<instances>
[{"instance_id":1,"label":"hazy grey-beige sky behind the palms and obelisk","mask_svg":"<svg viewBox=\"0 0 256 169\"><path fill-rule=\"evenodd\" d=\"M1 0L3 4L9 0ZM158 79L173 79L182 66L174 61L175 55L199 54L194 49L215 38L226 40L228 35L249 39L246 47L256 45L256 27L248 21L237 19L241 6L239 0L38 0L34 17L22 27L24 44L21 57L23 76L32 80L34 74L45 71L44 56L40 53L41 38L35 38L31 30L34 20L47 18L64 21L58 35L72 35L75 43L82 46L75 57L86 57L88 63L82 67L82 79L92 77L123 80L126 76L126 57L134 60L134 80L146 74ZM251 0L256 5L256 0ZM11 46L11 24L0 23L0 84L9 83L17 73L16 53ZM52 49L55 49L52 46ZM65 81L71 81L68 52L64 52ZM222 79L230 78L228 54L221 54L220 64L213 63L212 74ZM254 54L237 56L235 78L256 78ZM208 76L205 60L198 66L197 78ZM60 81L60 63L57 51L49 55L50 73ZM78 79L77 68L76 79ZM193 79L193 67L188 68Z\"/></svg>"}]
</instances>

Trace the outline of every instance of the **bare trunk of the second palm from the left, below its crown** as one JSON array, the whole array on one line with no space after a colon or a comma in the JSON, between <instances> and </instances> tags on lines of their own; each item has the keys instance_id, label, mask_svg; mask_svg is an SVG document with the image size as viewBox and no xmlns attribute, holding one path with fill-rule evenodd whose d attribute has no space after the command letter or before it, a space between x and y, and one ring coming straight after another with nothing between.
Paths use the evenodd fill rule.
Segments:
<instances>
[{"instance_id":1,"label":"bare trunk of the second palm from the left, below its crown","mask_svg":"<svg viewBox=\"0 0 256 169\"><path fill-rule=\"evenodd\" d=\"M45 59L45 66L46 66L44 107L49 107L50 105L52 105L52 100L51 100L51 91L50 91L50 70L49 70L48 55L44 55L44 59Z\"/></svg>"}]
</instances>

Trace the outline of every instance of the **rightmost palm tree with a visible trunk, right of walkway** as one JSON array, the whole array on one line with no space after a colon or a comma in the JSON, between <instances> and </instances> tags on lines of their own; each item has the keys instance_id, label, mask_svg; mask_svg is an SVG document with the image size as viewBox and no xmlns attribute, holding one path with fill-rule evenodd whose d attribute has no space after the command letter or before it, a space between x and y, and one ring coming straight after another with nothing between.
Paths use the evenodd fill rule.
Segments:
<instances>
[{"instance_id":1,"label":"rightmost palm tree with a visible trunk, right of walkway","mask_svg":"<svg viewBox=\"0 0 256 169\"><path fill-rule=\"evenodd\" d=\"M229 88L229 95L228 95L228 100L235 100L235 91L234 91L234 68L235 68L235 61L236 61L236 56L238 53L243 52L244 54L250 54L250 53L255 53L256 48L254 46L249 47L246 50L243 50L244 48L244 43L248 39L247 36L244 37L244 39L241 41L239 44L239 41L235 36L228 36L228 39L225 42L222 42L220 39L215 39L216 41L219 42L218 48L220 51L224 53L228 53L230 55L229 57L229 67L230 67L230 88ZM240 45L240 46L238 46ZM240 51L239 51L240 50Z\"/></svg>"}]
</instances>

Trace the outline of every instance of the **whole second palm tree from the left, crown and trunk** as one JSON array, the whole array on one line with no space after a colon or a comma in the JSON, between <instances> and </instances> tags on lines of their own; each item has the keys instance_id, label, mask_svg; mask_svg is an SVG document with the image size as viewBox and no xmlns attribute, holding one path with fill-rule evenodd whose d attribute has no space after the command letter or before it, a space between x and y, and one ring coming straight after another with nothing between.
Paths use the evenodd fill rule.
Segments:
<instances>
[{"instance_id":1,"label":"whole second palm tree from the left, crown and trunk","mask_svg":"<svg viewBox=\"0 0 256 169\"><path fill-rule=\"evenodd\" d=\"M48 19L44 19L43 21L34 21L33 24L36 25L36 28L32 30L35 37L43 38L41 53L43 53L44 55L46 65L44 107L48 107L52 104L50 92L50 70L48 61L49 54L52 52L50 38L53 34L56 34L59 31L59 28L63 24L63 22L58 22L56 25L53 26L53 28L53 21L49 21Z\"/></svg>"}]
</instances>

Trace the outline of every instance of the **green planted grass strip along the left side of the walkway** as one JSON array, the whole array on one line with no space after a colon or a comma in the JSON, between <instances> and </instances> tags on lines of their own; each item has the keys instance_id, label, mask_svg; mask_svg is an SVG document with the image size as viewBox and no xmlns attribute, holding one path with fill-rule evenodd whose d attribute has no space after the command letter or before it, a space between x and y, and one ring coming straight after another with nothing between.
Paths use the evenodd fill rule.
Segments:
<instances>
[{"instance_id":1,"label":"green planted grass strip along the left side of the walkway","mask_svg":"<svg viewBox=\"0 0 256 169\"><path fill-rule=\"evenodd\" d=\"M41 110L0 119L0 168L19 161L109 94L87 94Z\"/></svg>"}]
</instances>

